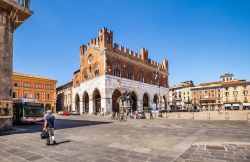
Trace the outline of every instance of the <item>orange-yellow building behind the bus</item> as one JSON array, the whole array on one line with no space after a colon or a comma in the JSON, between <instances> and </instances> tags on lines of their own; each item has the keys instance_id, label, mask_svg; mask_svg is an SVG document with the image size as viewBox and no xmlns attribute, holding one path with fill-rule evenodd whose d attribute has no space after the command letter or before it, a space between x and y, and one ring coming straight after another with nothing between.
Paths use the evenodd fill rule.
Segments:
<instances>
[{"instance_id":1,"label":"orange-yellow building behind the bus","mask_svg":"<svg viewBox=\"0 0 250 162\"><path fill-rule=\"evenodd\" d=\"M38 75L13 73L13 98L36 99L56 112L56 80Z\"/></svg>"}]
</instances>

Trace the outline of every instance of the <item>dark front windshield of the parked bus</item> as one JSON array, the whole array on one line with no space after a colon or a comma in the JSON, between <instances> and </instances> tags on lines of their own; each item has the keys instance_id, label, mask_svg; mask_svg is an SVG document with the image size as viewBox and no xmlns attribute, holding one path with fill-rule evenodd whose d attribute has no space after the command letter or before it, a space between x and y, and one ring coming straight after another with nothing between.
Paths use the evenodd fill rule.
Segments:
<instances>
[{"instance_id":1,"label":"dark front windshield of the parked bus","mask_svg":"<svg viewBox=\"0 0 250 162\"><path fill-rule=\"evenodd\" d=\"M24 106L25 117L43 116L44 108L42 106Z\"/></svg>"}]
</instances>

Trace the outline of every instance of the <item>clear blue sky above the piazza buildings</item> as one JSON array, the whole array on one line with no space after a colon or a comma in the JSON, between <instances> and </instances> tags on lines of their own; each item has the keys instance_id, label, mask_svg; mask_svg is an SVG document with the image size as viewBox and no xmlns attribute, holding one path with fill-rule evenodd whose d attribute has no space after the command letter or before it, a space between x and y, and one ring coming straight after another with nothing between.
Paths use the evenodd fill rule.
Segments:
<instances>
[{"instance_id":1,"label":"clear blue sky above the piazza buildings","mask_svg":"<svg viewBox=\"0 0 250 162\"><path fill-rule=\"evenodd\" d=\"M33 0L34 15L15 31L14 71L70 81L79 46L102 27L114 42L169 60L170 85L250 80L249 0Z\"/></svg>"}]
</instances>

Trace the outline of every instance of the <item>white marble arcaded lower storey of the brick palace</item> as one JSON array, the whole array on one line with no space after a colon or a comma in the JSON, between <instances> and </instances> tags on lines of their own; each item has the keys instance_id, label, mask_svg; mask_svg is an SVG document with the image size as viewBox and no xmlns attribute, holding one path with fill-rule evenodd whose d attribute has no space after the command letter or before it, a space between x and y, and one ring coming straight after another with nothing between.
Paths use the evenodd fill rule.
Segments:
<instances>
[{"instance_id":1,"label":"white marble arcaded lower storey of the brick palace","mask_svg":"<svg viewBox=\"0 0 250 162\"><path fill-rule=\"evenodd\" d=\"M98 76L92 80L85 81L72 91L72 110L76 110L76 95L80 97L80 113L84 112L83 95L87 92L89 95L89 113L94 112L93 93L98 89L101 94L101 109L105 113L112 110L112 94L118 89L121 93L128 91L134 92L137 96L137 110L143 109L143 95L147 93L150 107L153 107L153 98L159 95L159 87L142 83L135 80L120 78L112 75ZM169 90L166 87L160 87L161 103L163 96L166 99L166 105L169 109ZM162 106L163 107L163 106Z\"/></svg>"}]
</instances>

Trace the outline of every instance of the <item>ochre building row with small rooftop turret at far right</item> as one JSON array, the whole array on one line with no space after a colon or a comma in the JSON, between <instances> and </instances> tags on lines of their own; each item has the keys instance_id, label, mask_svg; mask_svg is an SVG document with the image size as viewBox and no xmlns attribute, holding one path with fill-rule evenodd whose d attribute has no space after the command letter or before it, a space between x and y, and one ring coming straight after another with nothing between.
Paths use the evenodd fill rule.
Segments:
<instances>
[{"instance_id":1,"label":"ochre building row with small rooftop turret at far right","mask_svg":"<svg viewBox=\"0 0 250 162\"><path fill-rule=\"evenodd\" d=\"M250 110L250 82L224 74L220 81L192 88L192 103L201 110Z\"/></svg>"}]
</instances>

